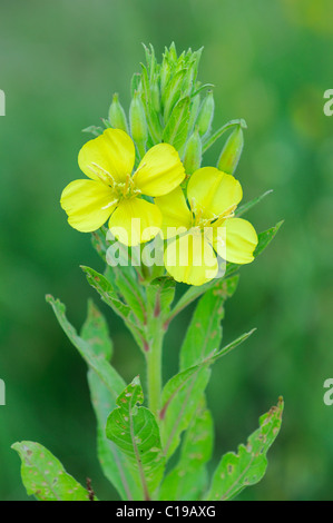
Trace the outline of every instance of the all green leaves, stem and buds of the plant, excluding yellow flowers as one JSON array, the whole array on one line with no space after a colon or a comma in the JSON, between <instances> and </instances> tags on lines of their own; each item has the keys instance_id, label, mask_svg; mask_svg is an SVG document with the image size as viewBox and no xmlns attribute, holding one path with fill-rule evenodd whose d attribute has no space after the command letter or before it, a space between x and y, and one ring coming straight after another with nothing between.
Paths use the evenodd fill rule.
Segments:
<instances>
[{"instance_id":1,"label":"all green leaves, stem and buds of the plant, excluding yellow flowers","mask_svg":"<svg viewBox=\"0 0 333 523\"><path fill-rule=\"evenodd\" d=\"M218 165L223 170L234 172L243 150L242 129L246 124L231 120L212 134L213 91L205 95L209 85L197 80L202 50L193 52L189 49L177 56L173 43L165 50L161 63L157 62L153 46L145 47L145 53L147 65L141 66L140 75L135 75L131 82L129 124L137 147L136 160L147 148L165 141L185 157L189 175L200 166L203 152L224 132L232 130ZM117 95L109 109L109 119L102 119L102 122L106 127L127 129L126 114ZM86 130L99 135L99 128ZM241 207L238 216L253 208L266 194ZM258 236L255 257L268 246L281 224ZM106 263L105 272L100 274L87 266L81 268L102 302L124 320L145 356L149 408L144 406L139 377L126 386L110 364L114 345L108 324L94 303L89 300L88 315L78 334L67 319L65 305L52 296L47 300L88 365L88 384L97 418L97 454L105 476L123 500L234 497L264 475L266 452L277 435L283 409L281 402L263 416L261 428L249 437L247 446L241 446L238 455L226 454L209 481L207 463L213 453L214 428L205 391L212 366L254 332L221 348L224 306L237 288L239 266L227 264L223 277L187 288L174 305L176 283L166 275L164 267L149 267L138 260L143 251L140 246L129 251L125 246L119 247L108 237L105 227L92 234L92 245ZM119 259L128 260L127 266L118 265ZM169 323L198 298L180 347L179 371L163 386L165 333ZM178 447L177 463L166 468ZM14 448L22 458L22 477L28 493L40 500L91 499L89 486L88 492L68 476L62 465L43 447L22 443L16 444ZM53 463L56 475L46 468L42 461L46 456L48 465ZM50 476L49 481L43 481L45 475Z\"/></svg>"}]
</instances>

